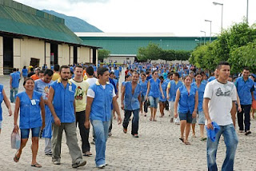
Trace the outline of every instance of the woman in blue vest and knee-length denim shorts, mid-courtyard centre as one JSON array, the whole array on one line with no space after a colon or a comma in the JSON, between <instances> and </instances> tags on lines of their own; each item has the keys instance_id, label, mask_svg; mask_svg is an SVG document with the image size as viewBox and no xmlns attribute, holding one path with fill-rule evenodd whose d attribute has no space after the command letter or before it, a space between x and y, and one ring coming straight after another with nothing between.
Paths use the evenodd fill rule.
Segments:
<instances>
[{"instance_id":1,"label":"woman in blue vest and knee-length denim shorts, mid-courtyard centre","mask_svg":"<svg viewBox=\"0 0 256 171\"><path fill-rule=\"evenodd\" d=\"M162 86L161 86L160 80L158 79L158 70L154 70L152 75L153 75L153 78L151 78L147 84L146 98L149 97L150 99L150 112L151 112L150 121L152 121L152 119L153 121L157 121L155 116L158 109L160 92L163 98L165 97L165 95L162 92Z\"/></svg>"}]
</instances>

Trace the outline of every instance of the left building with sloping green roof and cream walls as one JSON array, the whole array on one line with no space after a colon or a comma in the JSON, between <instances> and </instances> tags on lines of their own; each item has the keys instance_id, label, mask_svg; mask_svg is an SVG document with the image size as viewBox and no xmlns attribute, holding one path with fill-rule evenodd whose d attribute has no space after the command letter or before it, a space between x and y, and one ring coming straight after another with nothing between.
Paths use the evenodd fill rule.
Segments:
<instances>
[{"instance_id":1,"label":"left building with sloping green roof and cream walls","mask_svg":"<svg viewBox=\"0 0 256 171\"><path fill-rule=\"evenodd\" d=\"M89 46L62 18L12 0L0 0L0 74L12 68L98 62Z\"/></svg>"}]
</instances>

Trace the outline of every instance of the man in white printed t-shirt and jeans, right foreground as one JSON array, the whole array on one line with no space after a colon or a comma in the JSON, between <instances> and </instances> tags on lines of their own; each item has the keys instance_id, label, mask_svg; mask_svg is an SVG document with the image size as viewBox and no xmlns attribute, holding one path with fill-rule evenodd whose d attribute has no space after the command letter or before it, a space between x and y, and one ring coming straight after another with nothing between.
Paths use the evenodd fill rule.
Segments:
<instances>
[{"instance_id":1,"label":"man in white printed t-shirt and jeans, right foreground","mask_svg":"<svg viewBox=\"0 0 256 171\"><path fill-rule=\"evenodd\" d=\"M215 141L207 138L207 165L210 171L218 170L216 154L218 141L222 135L226 145L226 158L222 170L231 171L234 170L234 157L238 145L238 136L234 129L237 92L234 83L227 82L230 76L230 64L228 62L220 62L217 73L218 78L207 83L202 103L207 129L214 129L213 121L220 127L218 133L215 134Z\"/></svg>"}]
</instances>

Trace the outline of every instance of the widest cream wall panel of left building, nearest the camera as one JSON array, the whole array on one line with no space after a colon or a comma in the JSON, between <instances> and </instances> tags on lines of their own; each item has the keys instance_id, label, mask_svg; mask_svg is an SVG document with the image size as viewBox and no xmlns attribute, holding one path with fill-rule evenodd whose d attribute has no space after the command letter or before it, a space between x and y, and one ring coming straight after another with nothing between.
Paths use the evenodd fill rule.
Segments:
<instances>
[{"instance_id":1,"label":"widest cream wall panel of left building, nearest the camera","mask_svg":"<svg viewBox=\"0 0 256 171\"><path fill-rule=\"evenodd\" d=\"M14 68L22 69L23 66L30 66L30 58L39 59L39 66L43 66L45 62L45 42L38 38L22 38L19 40L20 46L18 40L14 41L14 54L16 54L14 58L17 59L17 62L14 59ZM19 50L20 58L18 58Z\"/></svg>"}]
</instances>

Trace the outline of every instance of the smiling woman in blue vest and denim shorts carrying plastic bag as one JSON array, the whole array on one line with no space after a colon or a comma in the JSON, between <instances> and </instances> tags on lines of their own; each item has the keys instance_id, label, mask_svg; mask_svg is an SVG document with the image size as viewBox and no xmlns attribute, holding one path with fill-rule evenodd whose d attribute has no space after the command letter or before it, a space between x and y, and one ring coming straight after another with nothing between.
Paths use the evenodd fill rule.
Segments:
<instances>
[{"instance_id":1,"label":"smiling woman in blue vest and denim shorts carrying plastic bag","mask_svg":"<svg viewBox=\"0 0 256 171\"><path fill-rule=\"evenodd\" d=\"M45 105L42 100L42 94L34 91L34 80L26 78L23 82L25 91L18 93L14 110L14 131L18 133L18 111L20 113L19 127L21 129L21 147L15 153L14 161L18 162L22 155L22 149L26 146L32 131L32 161L31 166L41 168L36 161L38 153L38 137L40 130L45 127Z\"/></svg>"}]
</instances>

